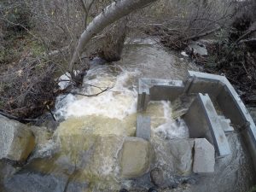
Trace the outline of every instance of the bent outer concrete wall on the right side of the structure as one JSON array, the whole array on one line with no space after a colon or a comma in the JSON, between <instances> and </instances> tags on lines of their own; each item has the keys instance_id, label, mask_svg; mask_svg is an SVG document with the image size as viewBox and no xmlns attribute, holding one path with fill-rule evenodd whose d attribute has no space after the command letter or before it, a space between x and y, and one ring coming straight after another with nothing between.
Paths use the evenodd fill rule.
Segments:
<instances>
[{"instance_id":1,"label":"bent outer concrete wall on the right side of the structure","mask_svg":"<svg viewBox=\"0 0 256 192\"><path fill-rule=\"evenodd\" d=\"M188 93L195 93L200 90L201 93L212 95L211 97L213 97L223 115L230 119L232 125L236 125L237 128L242 130L256 169L256 126L229 80L221 75L193 71L189 71L189 79L188 82L191 79L196 80L190 86ZM215 88L211 91L209 87L213 88L213 84L215 84Z\"/></svg>"}]
</instances>

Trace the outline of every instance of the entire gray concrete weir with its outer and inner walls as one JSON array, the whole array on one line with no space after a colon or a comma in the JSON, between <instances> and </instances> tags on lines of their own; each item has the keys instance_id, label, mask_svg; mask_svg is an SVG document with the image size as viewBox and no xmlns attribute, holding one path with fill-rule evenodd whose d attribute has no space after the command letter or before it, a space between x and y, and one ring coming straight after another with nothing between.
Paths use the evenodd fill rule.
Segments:
<instances>
[{"instance_id":1,"label":"entire gray concrete weir with its outer and inner walls","mask_svg":"<svg viewBox=\"0 0 256 192\"><path fill-rule=\"evenodd\" d=\"M255 124L236 90L224 76L189 71L189 77L183 81L139 79L138 86L138 112L147 110L150 101L172 102L179 96L196 96L182 116L189 127L189 137L207 138L221 157L231 154L226 135L234 128L242 131L256 167ZM149 139L148 117L138 115L137 134L137 137Z\"/></svg>"}]
</instances>

